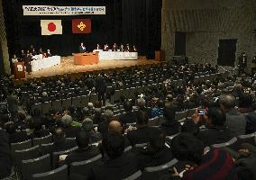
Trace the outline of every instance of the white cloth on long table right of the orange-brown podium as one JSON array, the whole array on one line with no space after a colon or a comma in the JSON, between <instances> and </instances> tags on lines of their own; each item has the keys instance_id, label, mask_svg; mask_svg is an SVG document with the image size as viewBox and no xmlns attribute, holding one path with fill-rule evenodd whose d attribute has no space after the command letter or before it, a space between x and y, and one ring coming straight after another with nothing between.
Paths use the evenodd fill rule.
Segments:
<instances>
[{"instance_id":1,"label":"white cloth on long table right of the orange-brown podium","mask_svg":"<svg viewBox=\"0 0 256 180\"><path fill-rule=\"evenodd\" d=\"M98 58L99 60L137 60L138 52L99 51Z\"/></svg>"}]
</instances>

